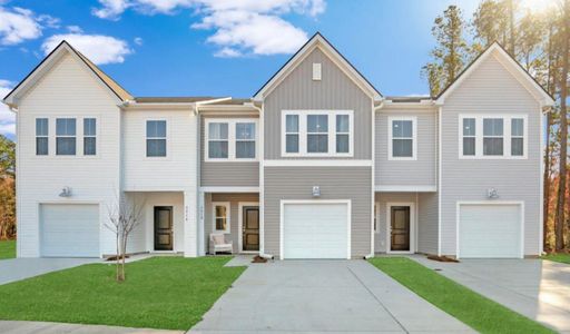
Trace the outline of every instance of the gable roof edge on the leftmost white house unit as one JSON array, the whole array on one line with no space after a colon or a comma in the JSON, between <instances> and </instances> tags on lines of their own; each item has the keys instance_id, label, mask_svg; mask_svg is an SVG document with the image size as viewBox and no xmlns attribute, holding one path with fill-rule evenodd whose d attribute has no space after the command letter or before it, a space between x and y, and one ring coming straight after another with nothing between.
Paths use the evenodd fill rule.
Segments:
<instances>
[{"instance_id":1,"label":"gable roof edge on the leftmost white house unit","mask_svg":"<svg viewBox=\"0 0 570 334\"><path fill-rule=\"evenodd\" d=\"M81 63L83 63L99 80L119 99L126 101L132 99L132 96L124 89L119 84L112 80L100 68L92 63L81 52L77 51L67 41L61 41L43 60L33 68L23 80L20 81L3 99L8 105L16 105L14 98L20 94L27 91L35 82L37 82L43 75L51 68L62 52L68 51L70 55L76 56Z\"/></svg>"}]
</instances>

